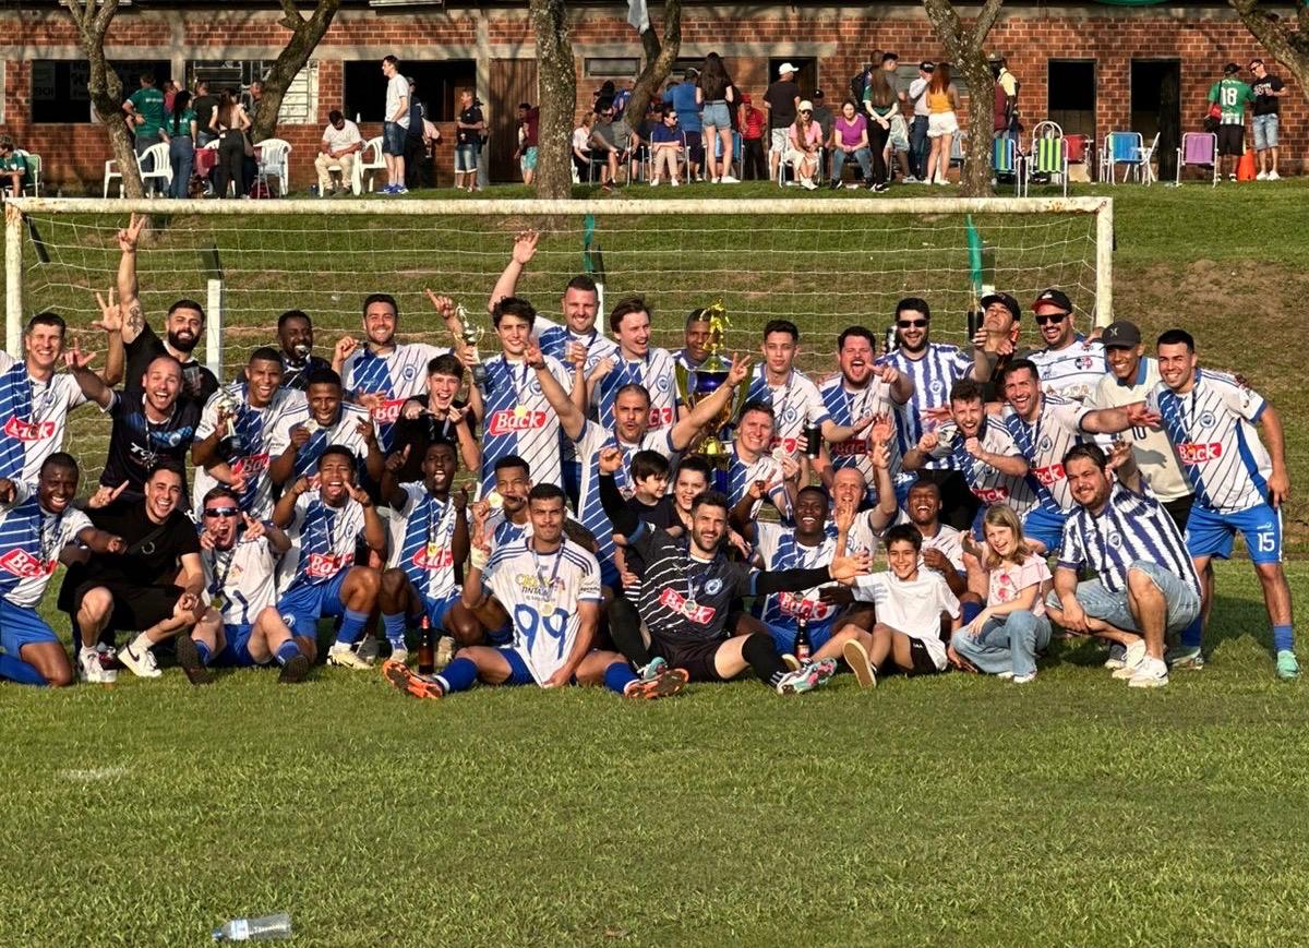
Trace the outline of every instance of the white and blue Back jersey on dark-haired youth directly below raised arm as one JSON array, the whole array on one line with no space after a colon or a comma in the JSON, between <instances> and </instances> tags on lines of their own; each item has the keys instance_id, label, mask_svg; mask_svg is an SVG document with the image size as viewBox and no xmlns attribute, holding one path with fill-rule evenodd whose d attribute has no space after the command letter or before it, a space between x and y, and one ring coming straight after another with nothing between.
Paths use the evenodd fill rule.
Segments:
<instances>
[{"instance_id":1,"label":"white and blue Back jersey on dark-haired youth directly below raised arm","mask_svg":"<svg viewBox=\"0 0 1309 948\"><path fill-rule=\"evenodd\" d=\"M572 377L563 363L545 356L564 392ZM537 372L525 361L497 355L487 359L486 420L482 424L482 494L495 487L495 464L517 454L531 465L531 483L563 487L559 471L559 414L541 390Z\"/></svg>"}]
</instances>

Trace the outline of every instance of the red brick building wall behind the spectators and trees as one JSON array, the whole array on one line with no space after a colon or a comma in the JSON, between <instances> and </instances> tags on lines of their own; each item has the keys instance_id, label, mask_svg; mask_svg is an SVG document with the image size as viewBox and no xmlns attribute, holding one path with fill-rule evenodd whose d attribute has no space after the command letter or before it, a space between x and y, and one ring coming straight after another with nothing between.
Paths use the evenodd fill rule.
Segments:
<instances>
[{"instance_id":1,"label":"red brick building wall behind the spectators and trees","mask_svg":"<svg viewBox=\"0 0 1309 948\"><path fill-rule=\"evenodd\" d=\"M161 9L166 7L127 7L118 14L107 50L120 71L149 65L161 80L204 73L216 85L245 85L276 58L287 35L271 3ZM590 92L606 79L622 82L637 71L640 43L626 13L626 4L575 4L579 106L589 105ZM805 90L823 88L829 102L844 94L873 50L897 51L907 75L919 59L942 55L916 5L690 3L682 37L685 64L716 50L742 90L762 93L772 67L789 59L801 67ZM1097 140L1110 130L1141 131L1149 139L1169 110L1182 130L1195 130L1224 63L1244 68L1251 56L1268 58L1225 4L1011 4L988 47L1004 52L1022 81L1026 124L1055 118L1066 131ZM357 115L365 136L381 132L378 64L386 54L399 56L402 72L418 79L419 97L442 128L439 183L450 181L450 120L462 88L475 88L487 106L492 179L511 179L514 106L535 101L526 4L374 7L347 0L283 109L279 136L293 145L293 183L313 181L312 162L331 109ZM1292 86L1282 101L1283 170L1300 172L1309 160L1309 109L1271 58L1270 67ZM98 192L109 147L85 101L85 63L67 14L52 3L0 8L0 131L42 155L51 192ZM1175 101L1161 97L1174 81ZM136 84L124 85L130 92Z\"/></svg>"}]
</instances>

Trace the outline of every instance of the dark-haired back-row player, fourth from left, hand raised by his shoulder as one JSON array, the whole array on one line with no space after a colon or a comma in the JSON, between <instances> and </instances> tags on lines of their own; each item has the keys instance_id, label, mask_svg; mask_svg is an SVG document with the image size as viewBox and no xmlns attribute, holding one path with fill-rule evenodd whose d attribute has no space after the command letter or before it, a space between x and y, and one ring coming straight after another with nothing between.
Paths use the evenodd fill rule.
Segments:
<instances>
[{"instance_id":1,"label":"dark-haired back-row player, fourth from left, hand raised by his shoulder","mask_svg":"<svg viewBox=\"0 0 1309 948\"><path fill-rule=\"evenodd\" d=\"M454 313L446 306L442 316ZM390 293L372 293L364 299L363 348L352 335L336 340L331 367L340 376L346 392L368 409L377 423L377 443L386 454L391 449L391 426L407 398L420 395L427 385L424 367L450 350L424 342L397 342L395 327L401 319L399 305Z\"/></svg>"}]
</instances>

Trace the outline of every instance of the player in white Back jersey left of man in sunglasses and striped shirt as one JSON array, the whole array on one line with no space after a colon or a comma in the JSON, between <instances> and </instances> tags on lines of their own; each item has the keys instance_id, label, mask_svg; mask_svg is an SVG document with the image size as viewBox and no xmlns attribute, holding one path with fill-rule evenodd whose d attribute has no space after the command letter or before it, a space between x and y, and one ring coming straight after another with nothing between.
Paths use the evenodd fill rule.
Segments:
<instances>
[{"instance_id":1,"label":"player in white Back jersey left of man in sunglasses and striped shirt","mask_svg":"<svg viewBox=\"0 0 1309 948\"><path fill-rule=\"evenodd\" d=\"M859 435L876 416L898 411L914 398L910 377L894 365L878 365L873 359L876 351L873 334L863 326L851 326L836 337L840 372L819 389L830 412L829 422L823 424L823 440L831 444L819 456L818 471L829 488L833 473L843 467L857 467L869 488L876 487L877 474L868 456L872 441L867 435ZM848 437L836 436L847 429ZM901 456L899 444L893 444L893 482L899 477ZM876 503L877 498L869 496L869 501Z\"/></svg>"}]
</instances>

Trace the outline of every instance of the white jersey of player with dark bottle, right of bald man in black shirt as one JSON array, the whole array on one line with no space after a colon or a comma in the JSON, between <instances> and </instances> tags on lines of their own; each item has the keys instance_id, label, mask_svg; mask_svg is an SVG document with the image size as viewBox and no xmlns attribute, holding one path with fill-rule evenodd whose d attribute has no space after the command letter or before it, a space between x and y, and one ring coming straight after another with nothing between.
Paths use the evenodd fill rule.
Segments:
<instances>
[{"instance_id":1,"label":"white jersey of player with dark bottle, right of bald man in black shirt","mask_svg":"<svg viewBox=\"0 0 1309 948\"><path fill-rule=\"evenodd\" d=\"M228 464L233 475L240 474L245 478L241 509L251 517L267 517L272 513L272 478L268 477L268 465L287 449L285 441L279 443L276 431L304 422L309 415L309 403L304 392L278 389L264 407L255 409L250 406L246 384L233 382L215 392L204 403L200 424L195 429L198 441L213 433L219 407L225 401L236 406L237 414L232 422L236 428L236 454ZM198 515L204 508L204 495L217 484L217 478L203 467L196 469L194 500Z\"/></svg>"}]
</instances>

